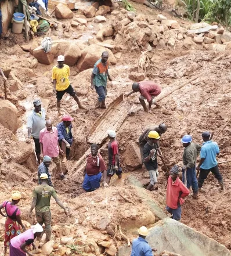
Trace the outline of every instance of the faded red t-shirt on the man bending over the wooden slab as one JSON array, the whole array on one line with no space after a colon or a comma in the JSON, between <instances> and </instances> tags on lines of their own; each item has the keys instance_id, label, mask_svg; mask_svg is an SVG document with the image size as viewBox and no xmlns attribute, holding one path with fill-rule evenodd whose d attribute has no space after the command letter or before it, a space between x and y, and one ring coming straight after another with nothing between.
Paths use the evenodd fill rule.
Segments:
<instances>
[{"instance_id":1,"label":"faded red t-shirt on the man bending over the wooden slab","mask_svg":"<svg viewBox=\"0 0 231 256\"><path fill-rule=\"evenodd\" d=\"M150 102L151 96L157 96L161 93L160 85L156 84L153 81L142 81L139 82L139 85L139 92L142 96L145 97L147 102Z\"/></svg>"}]
</instances>

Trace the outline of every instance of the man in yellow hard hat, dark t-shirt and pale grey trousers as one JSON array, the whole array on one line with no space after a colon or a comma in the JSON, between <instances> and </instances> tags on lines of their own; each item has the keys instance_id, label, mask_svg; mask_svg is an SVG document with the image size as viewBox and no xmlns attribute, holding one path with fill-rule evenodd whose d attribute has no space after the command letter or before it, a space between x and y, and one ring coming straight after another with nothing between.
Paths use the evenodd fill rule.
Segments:
<instances>
[{"instance_id":1,"label":"man in yellow hard hat, dark t-shirt and pale grey trousers","mask_svg":"<svg viewBox=\"0 0 231 256\"><path fill-rule=\"evenodd\" d=\"M147 190L151 190L157 183L158 177L157 149L160 135L156 131L150 131L147 136L149 141L143 147L143 158L150 176L150 184L147 186Z\"/></svg>"}]
</instances>

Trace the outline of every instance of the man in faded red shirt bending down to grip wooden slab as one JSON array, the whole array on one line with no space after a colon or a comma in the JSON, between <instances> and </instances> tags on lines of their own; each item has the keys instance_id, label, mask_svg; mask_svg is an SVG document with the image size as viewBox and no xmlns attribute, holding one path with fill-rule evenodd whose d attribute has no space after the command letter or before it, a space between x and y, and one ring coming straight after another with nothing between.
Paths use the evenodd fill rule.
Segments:
<instances>
[{"instance_id":1,"label":"man in faded red shirt bending down to grip wooden slab","mask_svg":"<svg viewBox=\"0 0 231 256\"><path fill-rule=\"evenodd\" d=\"M157 104L153 101L153 99L161 93L160 85L156 84L153 81L142 81L142 82L134 82L132 84L132 92L125 94L125 96L129 96L132 93L140 92L139 102L142 104L143 109L151 113L151 104L155 104L157 107L161 107L160 104ZM149 103L149 109L147 110L145 99Z\"/></svg>"}]
</instances>

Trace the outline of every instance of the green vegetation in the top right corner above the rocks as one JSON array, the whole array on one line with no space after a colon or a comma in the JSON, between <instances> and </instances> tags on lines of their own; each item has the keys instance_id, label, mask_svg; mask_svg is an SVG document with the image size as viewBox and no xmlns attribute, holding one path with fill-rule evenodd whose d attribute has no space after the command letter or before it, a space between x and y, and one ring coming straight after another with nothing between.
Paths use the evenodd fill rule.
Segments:
<instances>
[{"instance_id":1,"label":"green vegetation in the top right corner above the rocks","mask_svg":"<svg viewBox=\"0 0 231 256\"><path fill-rule=\"evenodd\" d=\"M194 2L194 15L193 15ZM197 0L185 0L188 12L196 17ZM225 26L231 25L231 0L200 0L198 19L205 21L217 21Z\"/></svg>"}]
</instances>

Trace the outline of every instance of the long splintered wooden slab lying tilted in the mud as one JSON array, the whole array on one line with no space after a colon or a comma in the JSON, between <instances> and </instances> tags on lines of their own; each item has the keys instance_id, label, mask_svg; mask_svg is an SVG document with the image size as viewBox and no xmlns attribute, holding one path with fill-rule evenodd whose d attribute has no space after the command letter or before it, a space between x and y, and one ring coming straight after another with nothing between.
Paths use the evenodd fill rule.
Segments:
<instances>
[{"instance_id":1,"label":"long splintered wooden slab lying tilted in the mud","mask_svg":"<svg viewBox=\"0 0 231 256\"><path fill-rule=\"evenodd\" d=\"M88 142L101 144L103 140L107 138L107 130L118 131L130 109L130 103L124 101L123 95L120 95L110 104L109 108L102 114L99 121L93 125Z\"/></svg>"}]
</instances>

